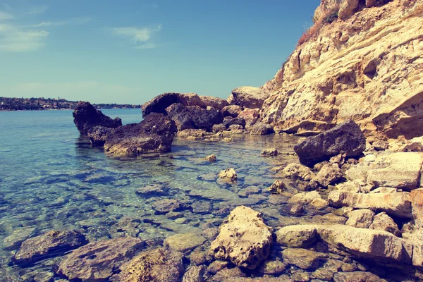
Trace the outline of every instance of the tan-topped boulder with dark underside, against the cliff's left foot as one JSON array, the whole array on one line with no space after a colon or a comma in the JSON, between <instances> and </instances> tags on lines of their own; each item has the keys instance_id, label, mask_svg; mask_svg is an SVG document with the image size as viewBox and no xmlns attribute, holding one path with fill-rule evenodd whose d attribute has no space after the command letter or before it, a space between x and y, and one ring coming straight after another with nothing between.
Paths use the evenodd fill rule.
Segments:
<instances>
[{"instance_id":1,"label":"tan-topped boulder with dark underside, against the cliff's left foot","mask_svg":"<svg viewBox=\"0 0 423 282\"><path fill-rule=\"evenodd\" d=\"M267 97L269 97L269 92L262 88L243 86L232 90L231 96L228 97L228 102L243 108L261 109Z\"/></svg>"}]
</instances>

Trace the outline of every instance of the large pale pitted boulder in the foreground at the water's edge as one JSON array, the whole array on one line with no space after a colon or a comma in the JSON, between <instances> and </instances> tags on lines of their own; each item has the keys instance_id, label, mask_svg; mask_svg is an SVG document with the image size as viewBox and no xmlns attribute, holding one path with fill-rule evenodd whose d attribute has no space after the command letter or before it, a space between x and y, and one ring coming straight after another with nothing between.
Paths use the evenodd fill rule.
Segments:
<instances>
[{"instance_id":1,"label":"large pale pitted boulder in the foreground at the water's edge","mask_svg":"<svg viewBox=\"0 0 423 282\"><path fill-rule=\"evenodd\" d=\"M269 256L272 242L271 228L264 224L261 214L240 206L221 225L210 253L216 259L229 259L237 266L255 269Z\"/></svg>"}]
</instances>

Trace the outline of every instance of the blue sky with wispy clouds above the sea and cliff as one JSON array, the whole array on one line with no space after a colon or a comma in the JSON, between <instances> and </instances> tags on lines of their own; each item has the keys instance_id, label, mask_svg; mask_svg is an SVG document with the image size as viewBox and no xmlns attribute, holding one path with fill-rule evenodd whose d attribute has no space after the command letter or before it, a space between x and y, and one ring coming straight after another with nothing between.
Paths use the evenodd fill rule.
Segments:
<instances>
[{"instance_id":1,"label":"blue sky with wispy clouds above the sea and cliff","mask_svg":"<svg viewBox=\"0 0 423 282\"><path fill-rule=\"evenodd\" d=\"M0 96L226 98L276 74L319 0L0 0Z\"/></svg>"}]
</instances>

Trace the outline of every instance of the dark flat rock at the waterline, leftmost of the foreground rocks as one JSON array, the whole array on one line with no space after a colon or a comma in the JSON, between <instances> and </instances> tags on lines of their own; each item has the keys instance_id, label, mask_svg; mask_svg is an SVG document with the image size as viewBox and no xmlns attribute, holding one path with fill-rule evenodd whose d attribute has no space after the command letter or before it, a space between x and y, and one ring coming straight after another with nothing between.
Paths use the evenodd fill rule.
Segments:
<instances>
[{"instance_id":1,"label":"dark flat rock at the waterline, leftmost of the foreground rocks","mask_svg":"<svg viewBox=\"0 0 423 282\"><path fill-rule=\"evenodd\" d=\"M12 257L12 262L34 263L47 257L63 255L86 243L85 236L78 231L49 231L23 241L16 255Z\"/></svg>"}]
</instances>

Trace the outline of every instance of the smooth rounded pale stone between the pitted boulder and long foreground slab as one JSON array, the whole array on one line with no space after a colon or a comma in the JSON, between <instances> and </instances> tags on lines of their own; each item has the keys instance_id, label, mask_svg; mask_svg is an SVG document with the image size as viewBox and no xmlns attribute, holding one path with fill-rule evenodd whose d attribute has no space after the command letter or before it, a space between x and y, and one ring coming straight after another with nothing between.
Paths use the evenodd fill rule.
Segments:
<instances>
[{"instance_id":1,"label":"smooth rounded pale stone between the pitted boulder and long foreground slab","mask_svg":"<svg viewBox=\"0 0 423 282\"><path fill-rule=\"evenodd\" d=\"M292 225L276 231L276 241L288 247L307 247L317 240L314 226Z\"/></svg>"}]
</instances>

